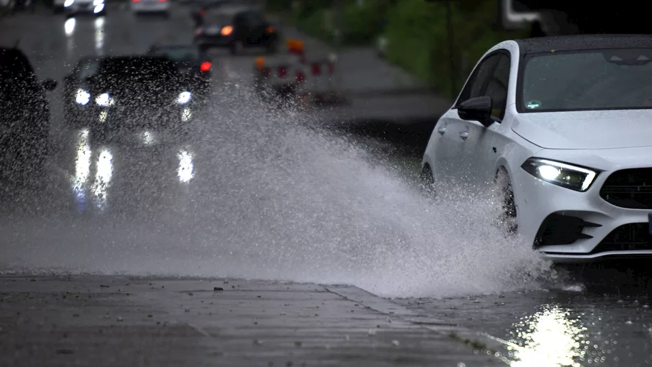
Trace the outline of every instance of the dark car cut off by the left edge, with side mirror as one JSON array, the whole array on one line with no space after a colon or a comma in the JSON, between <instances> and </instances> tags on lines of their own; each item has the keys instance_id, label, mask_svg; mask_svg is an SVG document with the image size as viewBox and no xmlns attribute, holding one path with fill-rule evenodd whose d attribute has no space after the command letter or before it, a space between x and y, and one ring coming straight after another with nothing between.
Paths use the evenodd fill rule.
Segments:
<instances>
[{"instance_id":1,"label":"dark car cut off by the left edge, with side mirror","mask_svg":"<svg viewBox=\"0 0 652 367\"><path fill-rule=\"evenodd\" d=\"M38 172L50 148L50 104L45 91L52 79L38 80L18 48L0 48L0 172ZM15 176L13 176L15 177Z\"/></svg>"}]
</instances>

